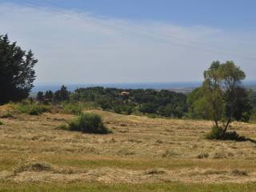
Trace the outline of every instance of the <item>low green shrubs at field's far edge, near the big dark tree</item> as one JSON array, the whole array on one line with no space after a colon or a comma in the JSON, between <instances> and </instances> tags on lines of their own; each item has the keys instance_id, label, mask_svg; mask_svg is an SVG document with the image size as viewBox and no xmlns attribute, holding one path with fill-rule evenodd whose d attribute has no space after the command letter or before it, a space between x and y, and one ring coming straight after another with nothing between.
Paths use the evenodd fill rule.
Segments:
<instances>
[{"instance_id":1,"label":"low green shrubs at field's far edge, near the big dark tree","mask_svg":"<svg viewBox=\"0 0 256 192\"><path fill-rule=\"evenodd\" d=\"M23 105L20 104L17 106L17 110L19 110L21 113L24 114L30 114L30 115L39 115L42 113L50 112L50 106L45 105L38 105L38 104L32 104L32 105Z\"/></svg>"}]
</instances>

